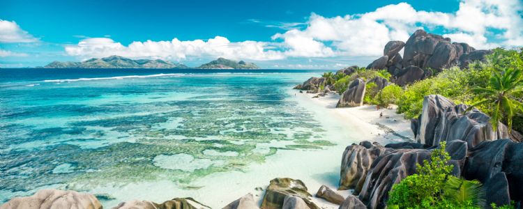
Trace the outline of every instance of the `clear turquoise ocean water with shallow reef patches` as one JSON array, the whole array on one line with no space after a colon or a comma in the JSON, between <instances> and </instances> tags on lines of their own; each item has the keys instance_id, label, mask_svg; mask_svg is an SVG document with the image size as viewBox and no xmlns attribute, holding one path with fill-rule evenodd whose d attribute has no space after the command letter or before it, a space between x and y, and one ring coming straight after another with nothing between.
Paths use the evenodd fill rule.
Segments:
<instances>
[{"instance_id":1,"label":"clear turquoise ocean water with shallow reef patches","mask_svg":"<svg viewBox=\"0 0 523 209\"><path fill-rule=\"evenodd\" d=\"M0 202L42 188L197 189L280 150L334 146L289 99L322 72L0 69Z\"/></svg>"}]
</instances>

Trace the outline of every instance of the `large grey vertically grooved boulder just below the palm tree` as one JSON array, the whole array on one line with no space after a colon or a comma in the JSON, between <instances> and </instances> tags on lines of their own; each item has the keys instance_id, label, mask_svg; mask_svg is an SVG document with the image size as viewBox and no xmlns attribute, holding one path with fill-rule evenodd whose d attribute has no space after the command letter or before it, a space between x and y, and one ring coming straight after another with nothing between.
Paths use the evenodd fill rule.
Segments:
<instances>
[{"instance_id":1,"label":"large grey vertically grooved boulder just below the palm tree","mask_svg":"<svg viewBox=\"0 0 523 209\"><path fill-rule=\"evenodd\" d=\"M498 125L497 131L492 129L490 117L472 109L465 111L467 105L455 105L441 95L427 95L423 100L423 111L418 118L416 141L429 146L437 146L440 141L460 139L467 141L469 148L482 141L509 138L506 126Z\"/></svg>"}]
</instances>

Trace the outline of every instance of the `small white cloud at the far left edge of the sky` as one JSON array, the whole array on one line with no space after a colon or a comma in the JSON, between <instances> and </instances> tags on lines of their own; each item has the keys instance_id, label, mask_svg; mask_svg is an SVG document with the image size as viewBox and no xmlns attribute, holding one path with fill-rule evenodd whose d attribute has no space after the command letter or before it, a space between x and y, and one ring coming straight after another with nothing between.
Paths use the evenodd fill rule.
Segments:
<instances>
[{"instance_id":1,"label":"small white cloud at the far left edge of the sky","mask_svg":"<svg viewBox=\"0 0 523 209\"><path fill-rule=\"evenodd\" d=\"M16 24L7 20L0 20L0 42L37 42L38 39L24 31Z\"/></svg>"}]
</instances>

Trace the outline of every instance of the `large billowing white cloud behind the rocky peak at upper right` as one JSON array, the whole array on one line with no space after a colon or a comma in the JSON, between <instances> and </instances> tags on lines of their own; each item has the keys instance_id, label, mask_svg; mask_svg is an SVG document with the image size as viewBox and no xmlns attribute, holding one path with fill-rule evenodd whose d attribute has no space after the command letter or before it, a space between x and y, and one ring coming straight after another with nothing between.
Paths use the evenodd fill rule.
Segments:
<instances>
[{"instance_id":1,"label":"large billowing white cloud behind the rocky peak at upper right","mask_svg":"<svg viewBox=\"0 0 523 209\"><path fill-rule=\"evenodd\" d=\"M370 13L344 17L312 14L305 29L278 33L273 39L282 39L291 51L310 49L301 44L289 44L293 40L309 40L303 43L309 47L316 46L314 52L318 53L314 53L315 56L379 56L386 42L405 41L423 26L425 29L443 28L447 31L444 36L456 42L467 42L478 49L515 47L523 45L521 13L523 8L519 0L465 0L460 2L460 8L455 13L418 11L409 3L398 3ZM498 33L495 38L501 41L489 41L487 36L494 33L493 30ZM316 42L331 42L331 45ZM334 53L325 48L332 48Z\"/></svg>"}]
</instances>

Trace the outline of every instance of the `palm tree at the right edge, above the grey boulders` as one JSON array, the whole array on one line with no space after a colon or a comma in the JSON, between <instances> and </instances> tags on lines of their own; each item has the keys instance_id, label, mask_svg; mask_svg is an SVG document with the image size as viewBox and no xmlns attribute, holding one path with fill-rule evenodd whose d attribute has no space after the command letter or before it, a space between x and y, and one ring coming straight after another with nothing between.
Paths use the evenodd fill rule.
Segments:
<instances>
[{"instance_id":1,"label":"palm tree at the right edge, above the grey boulders","mask_svg":"<svg viewBox=\"0 0 523 209\"><path fill-rule=\"evenodd\" d=\"M494 108L490 122L494 130L497 130L499 121L505 118L508 126L508 132L512 129L512 118L515 111L523 111L523 103L521 98L515 95L523 93L523 70L508 69L503 72L495 72L490 77L487 88L473 88L471 91L478 93L483 100L472 104L467 109L485 104L487 107Z\"/></svg>"}]
</instances>

